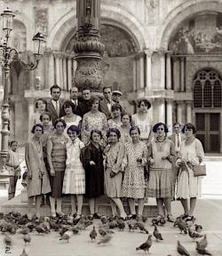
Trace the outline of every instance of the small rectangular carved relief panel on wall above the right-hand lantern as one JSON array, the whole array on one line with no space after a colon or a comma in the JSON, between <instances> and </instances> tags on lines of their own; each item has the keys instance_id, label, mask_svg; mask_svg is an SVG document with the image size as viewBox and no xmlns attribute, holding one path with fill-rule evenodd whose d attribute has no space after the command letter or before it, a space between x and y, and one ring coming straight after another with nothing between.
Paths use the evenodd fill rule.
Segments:
<instances>
[{"instance_id":1,"label":"small rectangular carved relief panel on wall above the right-hand lantern","mask_svg":"<svg viewBox=\"0 0 222 256\"><path fill-rule=\"evenodd\" d=\"M44 36L48 34L48 9L35 8L36 33L41 32Z\"/></svg>"}]
</instances>

